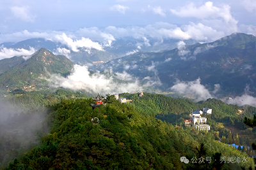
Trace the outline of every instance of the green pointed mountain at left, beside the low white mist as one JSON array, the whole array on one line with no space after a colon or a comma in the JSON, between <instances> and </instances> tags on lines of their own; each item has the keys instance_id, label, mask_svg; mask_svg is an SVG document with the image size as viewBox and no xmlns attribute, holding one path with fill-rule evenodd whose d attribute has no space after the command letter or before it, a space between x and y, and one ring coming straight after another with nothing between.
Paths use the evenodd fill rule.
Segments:
<instances>
[{"instance_id":1,"label":"green pointed mountain at left, beside the low white mist","mask_svg":"<svg viewBox=\"0 0 256 170\"><path fill-rule=\"evenodd\" d=\"M40 76L47 77L48 73L67 74L72 69L73 62L63 55L54 55L52 52L41 48L35 52L26 62L9 69L0 76L0 87L10 89L41 86L45 80Z\"/></svg>"}]
</instances>

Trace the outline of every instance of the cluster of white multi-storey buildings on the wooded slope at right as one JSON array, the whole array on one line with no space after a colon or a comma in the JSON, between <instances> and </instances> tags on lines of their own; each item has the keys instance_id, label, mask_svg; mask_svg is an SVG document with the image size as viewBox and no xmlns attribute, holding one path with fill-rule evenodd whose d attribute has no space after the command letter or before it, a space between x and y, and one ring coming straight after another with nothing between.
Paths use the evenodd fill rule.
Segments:
<instances>
[{"instance_id":1,"label":"cluster of white multi-storey buildings on the wooded slope at right","mask_svg":"<svg viewBox=\"0 0 256 170\"><path fill-rule=\"evenodd\" d=\"M195 129L198 129L199 131L209 131L210 125L206 124L207 118L201 117L203 113L207 115L212 114L212 109L204 108L203 111L195 110L191 112L190 120L184 120L184 124L189 126L191 123L193 123Z\"/></svg>"}]
</instances>

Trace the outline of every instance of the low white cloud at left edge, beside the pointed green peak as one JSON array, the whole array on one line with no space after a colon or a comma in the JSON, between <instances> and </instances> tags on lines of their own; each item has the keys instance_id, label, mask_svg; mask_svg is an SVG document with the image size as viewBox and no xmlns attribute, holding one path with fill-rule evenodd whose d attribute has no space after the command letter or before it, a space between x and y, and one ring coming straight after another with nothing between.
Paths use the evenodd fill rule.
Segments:
<instances>
[{"instance_id":1,"label":"low white cloud at left edge, beside the pointed green peak","mask_svg":"<svg viewBox=\"0 0 256 170\"><path fill-rule=\"evenodd\" d=\"M0 60L11 58L14 56L24 56L24 59L28 59L30 55L35 53L35 48L30 47L29 50L23 48L0 48Z\"/></svg>"}]
</instances>

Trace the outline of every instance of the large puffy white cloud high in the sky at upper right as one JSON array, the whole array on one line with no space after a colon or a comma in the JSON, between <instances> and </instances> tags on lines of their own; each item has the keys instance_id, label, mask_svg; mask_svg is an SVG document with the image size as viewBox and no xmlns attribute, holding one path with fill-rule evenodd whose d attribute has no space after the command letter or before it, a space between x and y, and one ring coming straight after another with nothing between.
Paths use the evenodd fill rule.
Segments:
<instances>
[{"instance_id":1,"label":"large puffy white cloud high in the sky at upper right","mask_svg":"<svg viewBox=\"0 0 256 170\"><path fill-rule=\"evenodd\" d=\"M227 4L217 7L208 1L204 5L196 7L195 4L190 3L180 8L180 10L171 11L179 17L202 19L198 24L191 22L188 25L181 26L188 34L193 35L191 36L192 39L209 40L214 37L214 40L216 40L217 37L221 38L238 31L237 20L232 17L230 6Z\"/></svg>"}]
</instances>

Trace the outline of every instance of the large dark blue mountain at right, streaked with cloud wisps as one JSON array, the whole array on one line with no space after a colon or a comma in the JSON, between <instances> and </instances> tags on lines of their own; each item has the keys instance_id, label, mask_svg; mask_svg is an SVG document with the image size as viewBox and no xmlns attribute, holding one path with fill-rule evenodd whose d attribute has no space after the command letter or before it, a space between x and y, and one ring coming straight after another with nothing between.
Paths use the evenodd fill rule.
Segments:
<instances>
[{"instance_id":1,"label":"large dark blue mountain at right, streaked with cloud wisps","mask_svg":"<svg viewBox=\"0 0 256 170\"><path fill-rule=\"evenodd\" d=\"M157 76L163 90L168 90L176 80L194 81L198 77L210 90L220 84L219 94L237 96L244 93L246 85L252 96L256 94L256 38L236 33L212 43L196 43L162 53L138 52L115 59L97 67L113 71L126 71L141 78Z\"/></svg>"}]
</instances>

